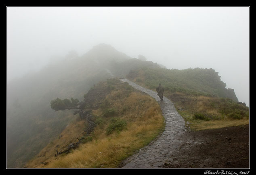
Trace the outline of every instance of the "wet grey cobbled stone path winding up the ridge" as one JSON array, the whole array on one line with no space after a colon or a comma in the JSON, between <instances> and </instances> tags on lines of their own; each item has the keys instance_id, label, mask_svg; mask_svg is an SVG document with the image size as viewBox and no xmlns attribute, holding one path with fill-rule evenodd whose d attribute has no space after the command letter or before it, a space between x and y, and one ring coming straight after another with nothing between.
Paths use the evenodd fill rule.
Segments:
<instances>
[{"instance_id":1,"label":"wet grey cobbled stone path winding up the ridge","mask_svg":"<svg viewBox=\"0 0 256 175\"><path fill-rule=\"evenodd\" d=\"M181 135L185 133L186 126L184 119L178 114L173 103L164 97L160 101L156 92L143 88L128 79L120 79L128 82L133 88L145 92L155 98L162 108L162 115L165 118L166 126L161 135L159 135L149 145L138 150L138 152L122 163L122 168L161 168L165 164L172 164L174 161L172 155L178 152L181 141Z\"/></svg>"}]
</instances>

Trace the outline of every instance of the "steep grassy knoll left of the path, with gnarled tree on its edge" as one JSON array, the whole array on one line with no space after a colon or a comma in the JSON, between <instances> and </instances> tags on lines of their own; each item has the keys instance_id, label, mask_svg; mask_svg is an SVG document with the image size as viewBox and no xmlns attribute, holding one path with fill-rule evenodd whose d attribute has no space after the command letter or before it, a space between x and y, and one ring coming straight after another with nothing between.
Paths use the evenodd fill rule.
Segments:
<instances>
[{"instance_id":1,"label":"steep grassy knoll left of the path, with gnarled tree on its edge","mask_svg":"<svg viewBox=\"0 0 256 175\"><path fill-rule=\"evenodd\" d=\"M27 168L115 168L164 127L159 104L118 79L95 85L82 104L79 115ZM67 150L78 140L77 148Z\"/></svg>"}]
</instances>

